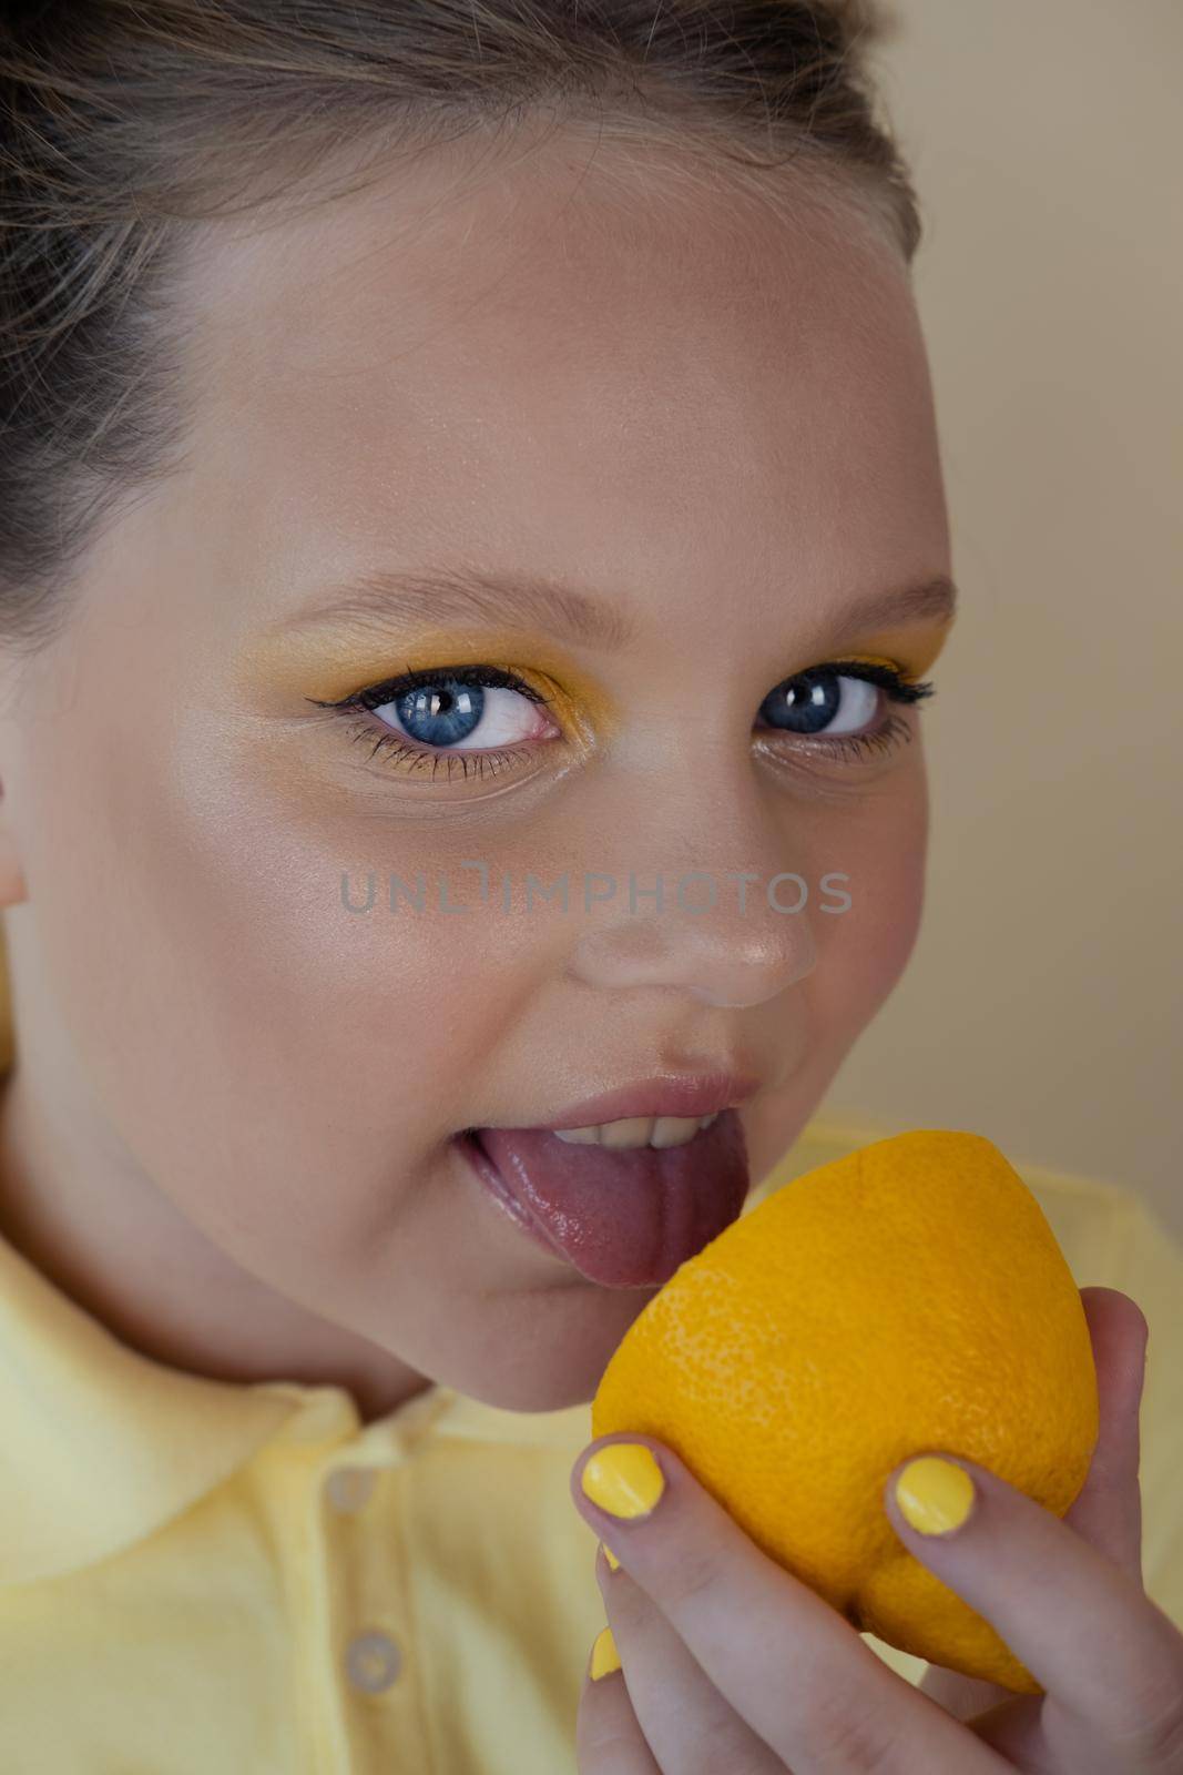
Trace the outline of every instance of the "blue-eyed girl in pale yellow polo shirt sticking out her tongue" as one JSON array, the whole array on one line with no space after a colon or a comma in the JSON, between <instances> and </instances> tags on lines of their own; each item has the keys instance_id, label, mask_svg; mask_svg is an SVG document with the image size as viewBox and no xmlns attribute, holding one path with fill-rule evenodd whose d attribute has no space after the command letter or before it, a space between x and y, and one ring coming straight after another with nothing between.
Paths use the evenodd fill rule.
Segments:
<instances>
[{"instance_id":1,"label":"blue-eyed girl in pale yellow polo shirt sticking out her tongue","mask_svg":"<svg viewBox=\"0 0 1183 1775\"><path fill-rule=\"evenodd\" d=\"M954 589L873 23L7 9L9 1768L1183 1768L1140 1274L1071 1523L885 1498L1038 1700L921 1692L653 1440L651 1519L582 1484L921 918Z\"/></svg>"}]
</instances>

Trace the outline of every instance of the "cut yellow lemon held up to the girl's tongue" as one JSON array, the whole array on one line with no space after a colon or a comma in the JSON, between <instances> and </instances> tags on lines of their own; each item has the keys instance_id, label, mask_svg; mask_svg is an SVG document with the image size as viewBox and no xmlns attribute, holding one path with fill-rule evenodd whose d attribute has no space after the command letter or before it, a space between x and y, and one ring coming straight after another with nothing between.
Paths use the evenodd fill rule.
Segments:
<instances>
[{"instance_id":1,"label":"cut yellow lemon held up to the girl's tongue","mask_svg":"<svg viewBox=\"0 0 1183 1775\"><path fill-rule=\"evenodd\" d=\"M1096 1447L1080 1290L981 1134L894 1134L743 1212L642 1308L591 1415L669 1443L858 1631L1043 1693L883 1507L901 1461L944 1450L1062 1516Z\"/></svg>"}]
</instances>

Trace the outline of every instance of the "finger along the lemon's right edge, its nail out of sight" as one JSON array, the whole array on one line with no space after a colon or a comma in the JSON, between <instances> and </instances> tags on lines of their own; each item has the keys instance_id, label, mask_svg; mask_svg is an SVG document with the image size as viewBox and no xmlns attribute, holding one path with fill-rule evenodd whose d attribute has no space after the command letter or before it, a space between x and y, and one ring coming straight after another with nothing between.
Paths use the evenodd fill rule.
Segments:
<instances>
[{"instance_id":1,"label":"finger along the lemon's right edge, its nail out of sight","mask_svg":"<svg viewBox=\"0 0 1183 1775\"><path fill-rule=\"evenodd\" d=\"M1091 1546L1142 1583L1142 1493L1139 1489L1146 1317L1117 1289L1082 1289L1101 1427L1087 1479L1064 1514Z\"/></svg>"}]
</instances>

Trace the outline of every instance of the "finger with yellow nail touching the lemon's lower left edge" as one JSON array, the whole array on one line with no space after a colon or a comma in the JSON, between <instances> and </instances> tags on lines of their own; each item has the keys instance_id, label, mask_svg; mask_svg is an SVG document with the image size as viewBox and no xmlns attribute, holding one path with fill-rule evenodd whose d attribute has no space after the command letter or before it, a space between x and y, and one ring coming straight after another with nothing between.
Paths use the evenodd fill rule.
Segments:
<instances>
[{"instance_id":1,"label":"finger with yellow nail touching the lemon's lower left edge","mask_svg":"<svg viewBox=\"0 0 1183 1775\"><path fill-rule=\"evenodd\" d=\"M644 1514L614 1516L584 1475L614 1443L649 1450L663 1480ZM601 1468L592 1468L592 1486ZM603 1493L601 1493L603 1495ZM651 1436L603 1436L571 1470L571 1496L665 1615L720 1695L795 1775L999 1775L1002 1759L901 1681L855 1628L740 1528ZM628 1509L626 1489L621 1507Z\"/></svg>"}]
</instances>

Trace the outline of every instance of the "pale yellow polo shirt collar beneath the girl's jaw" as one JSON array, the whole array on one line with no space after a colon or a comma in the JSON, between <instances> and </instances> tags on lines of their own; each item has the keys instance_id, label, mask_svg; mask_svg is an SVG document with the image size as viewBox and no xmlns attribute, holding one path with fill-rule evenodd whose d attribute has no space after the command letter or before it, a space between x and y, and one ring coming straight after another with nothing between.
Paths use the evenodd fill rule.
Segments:
<instances>
[{"instance_id":1,"label":"pale yellow polo shirt collar beneath the girl's jaw","mask_svg":"<svg viewBox=\"0 0 1183 1775\"><path fill-rule=\"evenodd\" d=\"M270 1441L399 1461L424 1436L591 1441L591 1408L504 1411L431 1384L362 1425L339 1386L215 1381L122 1344L0 1239L0 1585L76 1571L179 1516Z\"/></svg>"}]
</instances>

